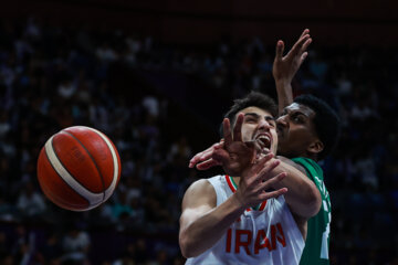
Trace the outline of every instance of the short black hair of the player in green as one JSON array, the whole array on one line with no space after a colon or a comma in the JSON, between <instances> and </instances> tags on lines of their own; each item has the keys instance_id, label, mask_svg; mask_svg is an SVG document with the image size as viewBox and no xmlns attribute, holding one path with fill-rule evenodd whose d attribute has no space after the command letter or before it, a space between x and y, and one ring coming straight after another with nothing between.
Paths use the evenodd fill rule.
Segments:
<instances>
[{"instance_id":1,"label":"short black hair of the player in green","mask_svg":"<svg viewBox=\"0 0 398 265\"><path fill-rule=\"evenodd\" d=\"M315 130L324 145L324 149L317 155L317 159L324 159L334 150L339 138L341 120L337 113L326 102L308 94L301 95L294 98L293 102L314 110L313 123Z\"/></svg>"}]
</instances>

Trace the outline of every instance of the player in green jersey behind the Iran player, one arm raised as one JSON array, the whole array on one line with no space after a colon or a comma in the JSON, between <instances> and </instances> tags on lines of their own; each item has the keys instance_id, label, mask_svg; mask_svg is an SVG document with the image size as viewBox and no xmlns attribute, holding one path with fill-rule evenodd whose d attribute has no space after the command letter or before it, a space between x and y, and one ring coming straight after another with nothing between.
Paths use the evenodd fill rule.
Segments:
<instances>
[{"instance_id":1,"label":"player in green jersey behind the Iran player, one arm raised","mask_svg":"<svg viewBox=\"0 0 398 265\"><path fill-rule=\"evenodd\" d=\"M310 31L304 30L292 50L283 56L284 43L276 44L273 75L276 83L280 118L279 153L292 158L293 165L314 181L322 195L321 211L307 224L307 239L301 264L329 264L328 242L331 223L331 200L323 182L323 171L315 162L326 157L336 145L339 135L339 120L335 112L323 100L312 96L301 96L293 103L291 82L300 65L305 60L306 49L312 42ZM289 105L289 106L287 106ZM211 159L213 148L198 153L191 160L199 169L219 165ZM209 159L210 158L210 159Z\"/></svg>"}]
</instances>

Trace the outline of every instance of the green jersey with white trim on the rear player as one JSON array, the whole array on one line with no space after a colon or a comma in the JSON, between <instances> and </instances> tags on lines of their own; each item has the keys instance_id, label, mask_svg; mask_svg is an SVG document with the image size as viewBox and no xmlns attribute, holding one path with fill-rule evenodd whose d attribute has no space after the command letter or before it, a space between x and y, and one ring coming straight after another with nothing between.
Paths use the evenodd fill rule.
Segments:
<instances>
[{"instance_id":1,"label":"green jersey with white trim on the rear player","mask_svg":"<svg viewBox=\"0 0 398 265\"><path fill-rule=\"evenodd\" d=\"M307 177L315 183L322 197L322 206L320 212L308 220L307 237L300 264L329 264L328 246L332 221L332 204L329 194L324 183L323 171L321 167L312 159L300 157L293 158L292 160L305 168Z\"/></svg>"}]
</instances>

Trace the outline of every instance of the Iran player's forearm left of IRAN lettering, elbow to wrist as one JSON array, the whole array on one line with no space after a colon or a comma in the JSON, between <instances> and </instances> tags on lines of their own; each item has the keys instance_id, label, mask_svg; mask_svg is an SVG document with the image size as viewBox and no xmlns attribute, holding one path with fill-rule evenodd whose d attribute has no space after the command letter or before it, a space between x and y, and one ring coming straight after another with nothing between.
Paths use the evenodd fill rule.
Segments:
<instances>
[{"instance_id":1,"label":"Iran player's forearm left of IRAN lettering, elbow to wrist","mask_svg":"<svg viewBox=\"0 0 398 265\"><path fill-rule=\"evenodd\" d=\"M213 246L244 208L232 195L180 231L179 244L185 257L195 257Z\"/></svg>"}]
</instances>

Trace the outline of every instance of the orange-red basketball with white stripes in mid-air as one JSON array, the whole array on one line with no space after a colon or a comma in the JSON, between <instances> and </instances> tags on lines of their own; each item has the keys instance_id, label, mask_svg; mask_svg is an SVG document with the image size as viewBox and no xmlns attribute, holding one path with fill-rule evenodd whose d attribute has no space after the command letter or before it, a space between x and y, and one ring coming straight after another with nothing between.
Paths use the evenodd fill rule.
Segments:
<instances>
[{"instance_id":1,"label":"orange-red basketball with white stripes in mid-air","mask_svg":"<svg viewBox=\"0 0 398 265\"><path fill-rule=\"evenodd\" d=\"M103 132L84 126L50 137L38 160L43 193L60 208L87 211L105 202L121 178L121 159Z\"/></svg>"}]
</instances>

